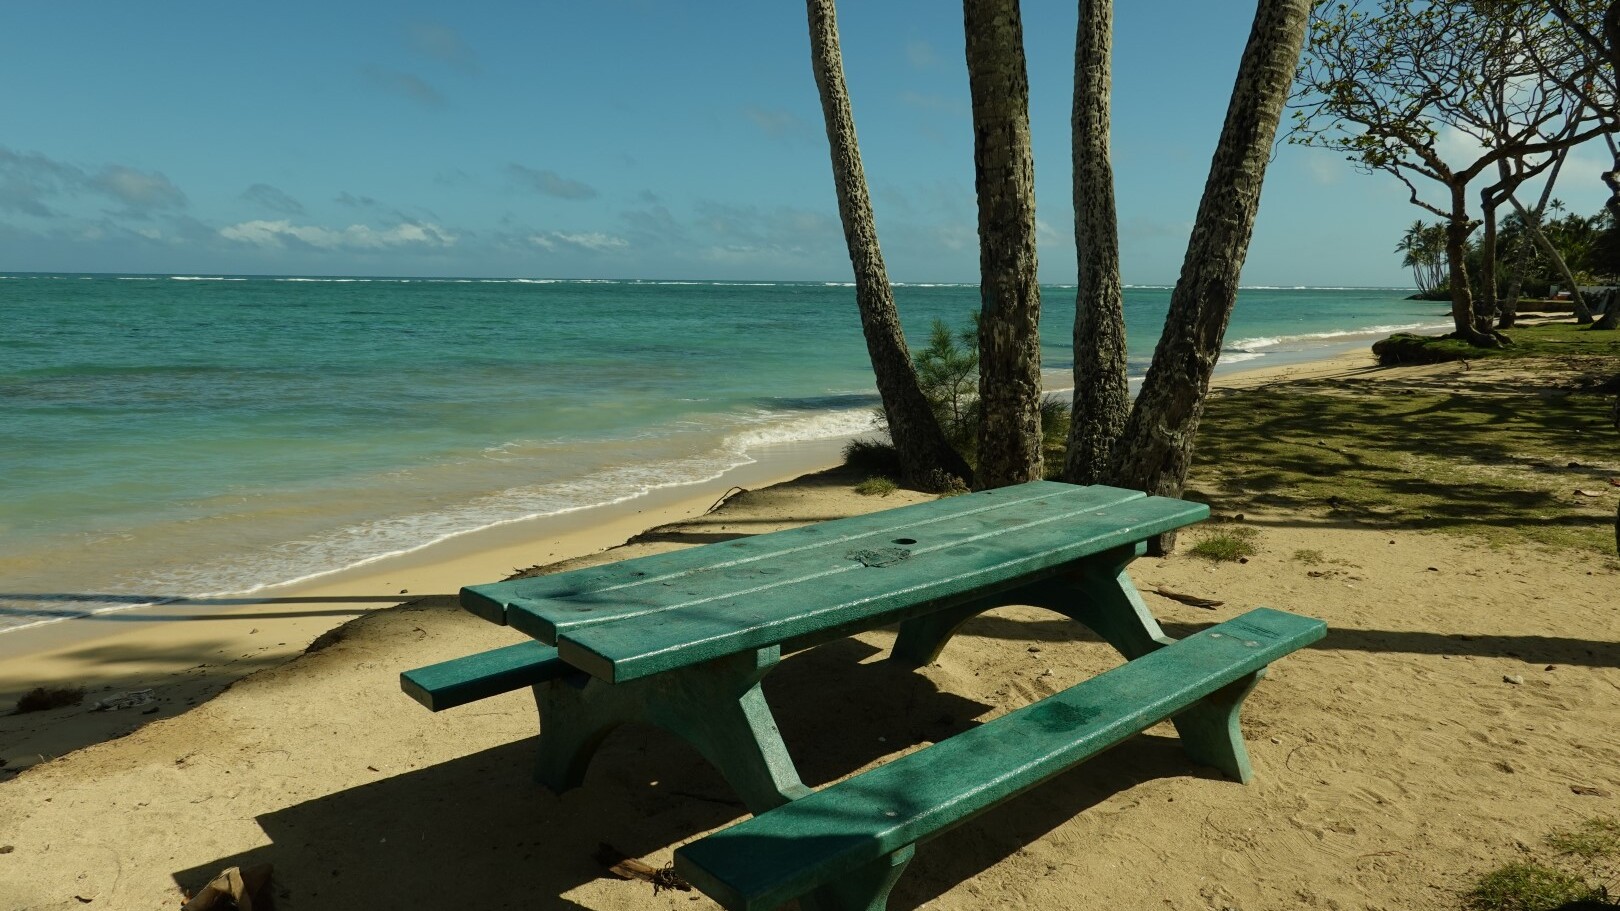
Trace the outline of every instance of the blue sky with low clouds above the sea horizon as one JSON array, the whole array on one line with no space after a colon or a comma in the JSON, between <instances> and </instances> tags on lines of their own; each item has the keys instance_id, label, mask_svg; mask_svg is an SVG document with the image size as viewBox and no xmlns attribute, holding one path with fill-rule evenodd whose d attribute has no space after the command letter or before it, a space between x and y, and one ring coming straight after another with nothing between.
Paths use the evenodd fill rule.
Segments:
<instances>
[{"instance_id":1,"label":"blue sky with low clouds above the sea horizon","mask_svg":"<svg viewBox=\"0 0 1620 911\"><path fill-rule=\"evenodd\" d=\"M1119 3L1121 272L1171 284L1254 6ZM1040 277L1074 282L1076 3L1025 0ZM954 3L841 3L897 282L975 282ZM1286 122L1285 122L1286 125ZM1597 149L1557 196L1596 212ZM1387 175L1280 146L1246 285L1405 287ZM849 280L804 6L6 0L0 271Z\"/></svg>"}]
</instances>

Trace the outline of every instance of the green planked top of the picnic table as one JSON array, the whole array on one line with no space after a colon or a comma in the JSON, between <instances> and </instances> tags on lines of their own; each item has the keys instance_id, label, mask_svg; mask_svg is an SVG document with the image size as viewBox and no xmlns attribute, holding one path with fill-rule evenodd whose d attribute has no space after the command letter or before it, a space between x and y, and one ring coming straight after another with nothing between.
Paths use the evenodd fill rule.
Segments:
<instances>
[{"instance_id":1,"label":"green planked top of the picnic table","mask_svg":"<svg viewBox=\"0 0 1620 911\"><path fill-rule=\"evenodd\" d=\"M470 585L462 605L627 681L847 635L1022 585L1209 515L1197 503L1030 481L608 566Z\"/></svg>"}]
</instances>

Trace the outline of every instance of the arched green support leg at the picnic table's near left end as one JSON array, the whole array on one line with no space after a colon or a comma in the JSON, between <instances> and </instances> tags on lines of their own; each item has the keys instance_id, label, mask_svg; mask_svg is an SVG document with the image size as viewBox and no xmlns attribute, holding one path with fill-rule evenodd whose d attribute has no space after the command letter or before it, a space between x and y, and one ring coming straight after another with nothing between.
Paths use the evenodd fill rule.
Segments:
<instances>
[{"instance_id":1,"label":"arched green support leg at the picnic table's near left end","mask_svg":"<svg viewBox=\"0 0 1620 911\"><path fill-rule=\"evenodd\" d=\"M692 744L742 798L765 812L810 793L799 780L760 681L781 660L776 647L732 655L654 678L606 684L585 674L535 687L539 768L552 791L567 791L603 739L625 721L646 721Z\"/></svg>"}]
</instances>

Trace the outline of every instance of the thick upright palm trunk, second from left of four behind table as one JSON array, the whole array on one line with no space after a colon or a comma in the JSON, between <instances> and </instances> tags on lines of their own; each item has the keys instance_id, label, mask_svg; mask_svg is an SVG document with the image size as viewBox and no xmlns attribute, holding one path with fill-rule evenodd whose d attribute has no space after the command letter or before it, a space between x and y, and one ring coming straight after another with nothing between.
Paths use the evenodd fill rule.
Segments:
<instances>
[{"instance_id":1,"label":"thick upright palm trunk, second from left of four behind table","mask_svg":"<svg viewBox=\"0 0 1620 911\"><path fill-rule=\"evenodd\" d=\"M1042 477L1035 162L1017 0L964 0L978 193L978 490Z\"/></svg>"}]
</instances>

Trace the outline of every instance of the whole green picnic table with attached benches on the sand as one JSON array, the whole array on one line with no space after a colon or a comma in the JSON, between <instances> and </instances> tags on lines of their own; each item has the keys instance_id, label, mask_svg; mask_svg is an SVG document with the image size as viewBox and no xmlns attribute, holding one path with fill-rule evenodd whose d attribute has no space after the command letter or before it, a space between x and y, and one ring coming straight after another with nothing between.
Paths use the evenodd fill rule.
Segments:
<instances>
[{"instance_id":1,"label":"whole green picnic table with attached benches on the sand","mask_svg":"<svg viewBox=\"0 0 1620 911\"><path fill-rule=\"evenodd\" d=\"M1320 621L1257 609L1181 642L1126 566L1209 509L1110 486L1032 481L462 590L533 640L407 671L433 710L533 687L536 778L580 785L598 744L648 721L698 749L755 819L684 846L677 872L727 908L804 896L883 908L912 846L1170 718L1200 763L1247 781L1238 710L1267 663ZM964 734L812 793L760 681L784 653L899 624L891 660L933 661L967 619L1034 605L1128 663Z\"/></svg>"}]
</instances>

